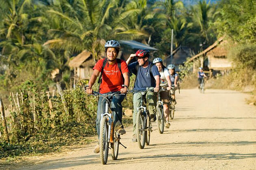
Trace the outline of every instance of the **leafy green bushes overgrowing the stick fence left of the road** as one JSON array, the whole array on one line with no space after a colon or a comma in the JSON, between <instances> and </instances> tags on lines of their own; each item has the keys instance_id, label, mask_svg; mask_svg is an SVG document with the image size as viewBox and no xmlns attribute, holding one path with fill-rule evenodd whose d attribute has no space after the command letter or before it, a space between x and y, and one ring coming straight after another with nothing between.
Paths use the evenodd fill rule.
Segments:
<instances>
[{"instance_id":1,"label":"leafy green bushes overgrowing the stick fence left of the road","mask_svg":"<svg viewBox=\"0 0 256 170\"><path fill-rule=\"evenodd\" d=\"M10 98L13 111L10 111L10 119L6 119L10 142L1 138L0 158L54 151L96 134L98 98L88 97L80 87L63 91L67 113L58 94L50 97L53 105L53 109L50 109L46 89L33 81L24 82L19 89L20 108L15 109L14 100ZM2 123L0 130L3 134Z\"/></svg>"}]
</instances>

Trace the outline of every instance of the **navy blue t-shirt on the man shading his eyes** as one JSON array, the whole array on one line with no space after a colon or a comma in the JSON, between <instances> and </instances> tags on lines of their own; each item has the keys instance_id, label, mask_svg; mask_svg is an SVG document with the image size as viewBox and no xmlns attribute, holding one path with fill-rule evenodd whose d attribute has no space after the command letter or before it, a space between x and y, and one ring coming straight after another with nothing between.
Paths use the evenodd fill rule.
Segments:
<instances>
[{"instance_id":1,"label":"navy blue t-shirt on the man shading his eyes","mask_svg":"<svg viewBox=\"0 0 256 170\"><path fill-rule=\"evenodd\" d=\"M137 71L136 66L138 64L139 64L138 62L133 62L128 65L129 71L137 75L133 89L145 90L147 87L156 87L156 82L154 77L157 75L160 76L160 73L157 67L153 63L149 62L147 68L143 68L142 66L139 66L139 69ZM153 64L151 68L153 77L150 76L150 64Z\"/></svg>"}]
</instances>

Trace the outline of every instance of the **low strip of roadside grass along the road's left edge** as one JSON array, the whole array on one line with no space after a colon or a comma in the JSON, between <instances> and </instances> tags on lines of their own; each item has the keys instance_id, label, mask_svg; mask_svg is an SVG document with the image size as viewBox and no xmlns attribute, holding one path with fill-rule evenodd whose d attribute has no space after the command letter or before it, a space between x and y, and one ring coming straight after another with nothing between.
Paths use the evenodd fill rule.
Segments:
<instances>
[{"instance_id":1,"label":"low strip of roadside grass along the road's left edge","mask_svg":"<svg viewBox=\"0 0 256 170\"><path fill-rule=\"evenodd\" d=\"M132 118L124 116L123 124L125 127L131 125ZM0 143L0 164L8 165L12 161L18 161L27 156L60 153L67 147L83 147L95 141L93 138L97 135L95 122L90 124L72 123L65 127L63 130L37 134L26 142Z\"/></svg>"}]
</instances>

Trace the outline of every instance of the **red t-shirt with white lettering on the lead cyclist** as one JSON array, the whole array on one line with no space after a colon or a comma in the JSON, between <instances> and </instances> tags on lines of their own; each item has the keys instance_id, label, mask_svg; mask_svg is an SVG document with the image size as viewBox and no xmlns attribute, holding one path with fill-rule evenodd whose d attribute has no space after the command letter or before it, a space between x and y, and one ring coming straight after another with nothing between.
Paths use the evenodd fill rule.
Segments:
<instances>
[{"instance_id":1,"label":"red t-shirt with white lettering on the lead cyclist","mask_svg":"<svg viewBox=\"0 0 256 170\"><path fill-rule=\"evenodd\" d=\"M96 69L101 72L104 59L99 60L93 70ZM129 72L128 66L124 60L121 60L121 71L124 74ZM117 66L117 62L113 65L106 63L102 72L102 83L100 85L100 93L108 93L110 91L120 91L124 84L121 72Z\"/></svg>"}]
</instances>

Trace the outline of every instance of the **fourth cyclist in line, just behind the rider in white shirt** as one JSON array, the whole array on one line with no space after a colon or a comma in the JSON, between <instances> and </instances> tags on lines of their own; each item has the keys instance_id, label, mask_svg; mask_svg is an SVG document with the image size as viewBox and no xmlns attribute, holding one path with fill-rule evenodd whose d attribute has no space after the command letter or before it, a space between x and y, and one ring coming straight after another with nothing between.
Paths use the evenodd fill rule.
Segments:
<instances>
[{"instance_id":1,"label":"fourth cyclist in line, just behind the rider in white shirt","mask_svg":"<svg viewBox=\"0 0 256 170\"><path fill-rule=\"evenodd\" d=\"M169 64L167 66L167 69L169 70L170 73L170 79L171 79L171 85L174 85L174 89L171 89L171 98L172 98L172 102L173 104L176 104L176 100L175 100L175 90L178 89L178 74L175 72L175 66L173 64Z\"/></svg>"}]
</instances>

